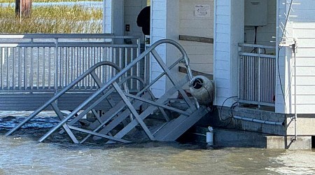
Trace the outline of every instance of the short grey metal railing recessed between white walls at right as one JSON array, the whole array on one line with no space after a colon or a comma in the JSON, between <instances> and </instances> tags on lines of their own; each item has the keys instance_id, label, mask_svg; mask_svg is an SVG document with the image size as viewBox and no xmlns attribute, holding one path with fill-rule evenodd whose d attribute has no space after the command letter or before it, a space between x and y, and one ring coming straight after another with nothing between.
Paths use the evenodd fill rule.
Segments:
<instances>
[{"instance_id":1,"label":"short grey metal railing recessed between white walls at right","mask_svg":"<svg viewBox=\"0 0 315 175\"><path fill-rule=\"evenodd\" d=\"M274 106L275 46L239 43L239 103Z\"/></svg>"}]
</instances>

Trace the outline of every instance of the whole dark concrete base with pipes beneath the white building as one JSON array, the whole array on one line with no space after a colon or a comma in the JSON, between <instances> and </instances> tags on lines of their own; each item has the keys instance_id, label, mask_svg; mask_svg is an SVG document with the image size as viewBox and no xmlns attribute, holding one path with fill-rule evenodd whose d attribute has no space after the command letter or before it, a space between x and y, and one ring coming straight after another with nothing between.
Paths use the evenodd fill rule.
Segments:
<instances>
[{"instance_id":1,"label":"whole dark concrete base with pipes beneath the white building","mask_svg":"<svg viewBox=\"0 0 315 175\"><path fill-rule=\"evenodd\" d=\"M235 116L269 123L242 120L234 118ZM214 127L214 145L218 147L277 149L311 149L315 147L315 117L297 116L297 127L295 128L294 121L290 116L292 115L274 113L267 109L218 106L190 129L188 137L206 141L206 134L209 132L208 126L211 126Z\"/></svg>"}]
</instances>

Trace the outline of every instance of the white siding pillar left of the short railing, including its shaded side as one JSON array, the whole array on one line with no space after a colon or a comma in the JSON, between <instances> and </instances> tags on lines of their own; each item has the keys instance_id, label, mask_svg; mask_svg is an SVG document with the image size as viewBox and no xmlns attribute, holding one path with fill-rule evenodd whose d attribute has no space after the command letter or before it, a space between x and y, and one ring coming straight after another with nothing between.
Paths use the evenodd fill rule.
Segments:
<instances>
[{"instance_id":1,"label":"white siding pillar left of the short railing, including its shaded side","mask_svg":"<svg viewBox=\"0 0 315 175\"><path fill-rule=\"evenodd\" d=\"M216 0L214 26L214 104L231 106L237 96L238 43L244 41L244 0Z\"/></svg>"}]
</instances>

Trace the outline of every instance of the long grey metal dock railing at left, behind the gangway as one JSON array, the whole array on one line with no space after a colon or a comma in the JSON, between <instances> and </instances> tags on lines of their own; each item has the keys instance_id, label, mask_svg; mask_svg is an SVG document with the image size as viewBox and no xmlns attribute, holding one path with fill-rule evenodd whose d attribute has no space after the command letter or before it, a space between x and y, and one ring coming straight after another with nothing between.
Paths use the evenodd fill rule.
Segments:
<instances>
[{"instance_id":1,"label":"long grey metal dock railing at left, behind the gangway","mask_svg":"<svg viewBox=\"0 0 315 175\"><path fill-rule=\"evenodd\" d=\"M127 41L127 42L126 42ZM58 92L97 62L109 61L124 68L140 54L138 36L113 34L1 34L0 93ZM143 76L144 64L126 74ZM115 71L97 70L106 82ZM137 90L137 81L128 82ZM97 85L85 78L73 91L92 90Z\"/></svg>"}]
</instances>

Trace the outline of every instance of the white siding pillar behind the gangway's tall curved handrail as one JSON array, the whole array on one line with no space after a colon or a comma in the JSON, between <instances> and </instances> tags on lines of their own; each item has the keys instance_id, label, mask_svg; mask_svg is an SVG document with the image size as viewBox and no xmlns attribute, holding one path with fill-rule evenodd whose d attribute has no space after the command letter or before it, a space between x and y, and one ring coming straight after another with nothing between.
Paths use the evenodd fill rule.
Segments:
<instances>
[{"instance_id":1,"label":"white siding pillar behind the gangway's tall curved handrail","mask_svg":"<svg viewBox=\"0 0 315 175\"><path fill-rule=\"evenodd\" d=\"M151 43L160 39L169 38L178 41L179 38L179 0L152 0L151 1ZM156 48L163 61L169 63L174 62L178 52L174 47L160 45ZM177 69L172 71L176 72ZM151 79L156 78L162 73L162 69L155 62L151 61ZM172 87L167 81L167 78L162 77L155 85L152 86L152 91L155 97L160 97L165 93L167 88Z\"/></svg>"}]
</instances>

